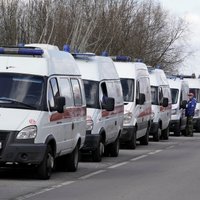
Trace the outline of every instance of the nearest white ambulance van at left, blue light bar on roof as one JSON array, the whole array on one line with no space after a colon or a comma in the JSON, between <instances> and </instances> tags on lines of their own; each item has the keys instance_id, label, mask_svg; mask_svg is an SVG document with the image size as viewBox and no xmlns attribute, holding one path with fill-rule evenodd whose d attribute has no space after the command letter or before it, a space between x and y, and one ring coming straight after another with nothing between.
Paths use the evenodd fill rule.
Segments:
<instances>
[{"instance_id":1,"label":"nearest white ambulance van at left, blue light bar on roof","mask_svg":"<svg viewBox=\"0 0 200 200\"><path fill-rule=\"evenodd\" d=\"M49 179L57 161L76 171L86 101L73 56L58 47L0 47L0 166L34 166Z\"/></svg>"}]
</instances>

